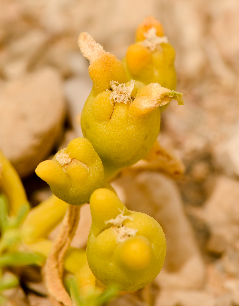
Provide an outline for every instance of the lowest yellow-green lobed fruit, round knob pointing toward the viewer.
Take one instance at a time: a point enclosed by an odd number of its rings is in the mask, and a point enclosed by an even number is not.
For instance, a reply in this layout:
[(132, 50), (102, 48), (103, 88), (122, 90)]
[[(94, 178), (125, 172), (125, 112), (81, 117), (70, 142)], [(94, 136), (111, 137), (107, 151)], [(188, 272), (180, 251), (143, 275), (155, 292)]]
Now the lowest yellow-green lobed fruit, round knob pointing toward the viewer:
[(92, 193), (90, 208), (87, 259), (95, 277), (120, 291), (137, 290), (150, 283), (166, 255), (159, 223), (146, 214), (129, 211), (106, 188)]

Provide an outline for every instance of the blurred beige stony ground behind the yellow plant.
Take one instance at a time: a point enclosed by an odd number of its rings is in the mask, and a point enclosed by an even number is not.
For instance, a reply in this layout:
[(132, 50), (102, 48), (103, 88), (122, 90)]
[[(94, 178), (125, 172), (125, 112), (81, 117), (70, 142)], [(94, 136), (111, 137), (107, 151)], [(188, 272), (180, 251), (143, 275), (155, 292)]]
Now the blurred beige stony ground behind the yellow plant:
[[(127, 207), (162, 225), (167, 258), (153, 284), (112, 306), (239, 305), (238, 14), (237, 0), (0, 0), (0, 148), (32, 206), (50, 195), (37, 164), (82, 136), (91, 80), (80, 32), (122, 59), (137, 25), (153, 15), (176, 50), (185, 105), (172, 102), (162, 114), (159, 141), (185, 175), (142, 171), (113, 183)], [(87, 206), (82, 214), (78, 247), (86, 245)], [(50, 305), (34, 290), (16, 290), (11, 306)]]

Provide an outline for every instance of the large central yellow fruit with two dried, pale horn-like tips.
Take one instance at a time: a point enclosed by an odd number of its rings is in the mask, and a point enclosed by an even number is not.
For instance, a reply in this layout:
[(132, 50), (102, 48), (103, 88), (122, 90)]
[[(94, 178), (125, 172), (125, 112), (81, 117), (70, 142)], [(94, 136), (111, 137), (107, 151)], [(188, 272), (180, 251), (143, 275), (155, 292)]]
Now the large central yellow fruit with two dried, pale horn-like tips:
[(101, 158), (108, 181), (118, 169), (144, 158), (159, 134), (159, 106), (181, 94), (156, 83), (145, 86), (125, 81), (122, 62), (106, 53), (88, 33), (80, 34), (79, 46), (90, 61), (93, 82), (81, 128)]

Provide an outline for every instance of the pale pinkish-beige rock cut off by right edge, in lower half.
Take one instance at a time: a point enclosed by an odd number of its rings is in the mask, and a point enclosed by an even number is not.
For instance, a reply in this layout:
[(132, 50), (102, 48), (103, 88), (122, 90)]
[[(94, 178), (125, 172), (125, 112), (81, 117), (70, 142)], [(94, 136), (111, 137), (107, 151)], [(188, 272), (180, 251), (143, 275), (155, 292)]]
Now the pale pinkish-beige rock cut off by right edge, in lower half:
[(218, 177), (215, 188), (204, 206), (211, 238), (208, 248), (225, 251), (229, 246), (238, 248), (239, 238), (239, 182), (225, 176)]

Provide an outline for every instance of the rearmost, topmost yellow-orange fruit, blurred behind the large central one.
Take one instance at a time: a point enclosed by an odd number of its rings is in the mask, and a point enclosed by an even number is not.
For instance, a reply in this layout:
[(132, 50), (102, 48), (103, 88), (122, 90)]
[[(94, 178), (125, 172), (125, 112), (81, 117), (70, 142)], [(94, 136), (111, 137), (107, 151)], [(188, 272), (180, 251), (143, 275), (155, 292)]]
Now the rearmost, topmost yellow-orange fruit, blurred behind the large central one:
[[(127, 77), (144, 84), (159, 83), (175, 90), (174, 48), (164, 36), (162, 24), (147, 17), (136, 30), (136, 43), (129, 46), (123, 59)], [(160, 110), (166, 106), (161, 106)]]

